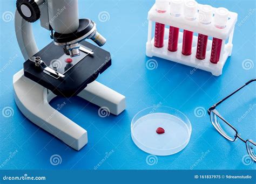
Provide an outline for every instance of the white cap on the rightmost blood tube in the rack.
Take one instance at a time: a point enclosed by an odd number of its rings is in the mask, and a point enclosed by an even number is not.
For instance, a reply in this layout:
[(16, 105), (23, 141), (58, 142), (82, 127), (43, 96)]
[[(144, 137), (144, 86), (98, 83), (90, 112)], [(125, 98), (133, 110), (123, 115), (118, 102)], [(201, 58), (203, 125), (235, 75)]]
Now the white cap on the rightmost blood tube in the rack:
[(217, 8), (214, 15), (214, 24), (218, 28), (226, 27), (229, 11), (226, 8)]

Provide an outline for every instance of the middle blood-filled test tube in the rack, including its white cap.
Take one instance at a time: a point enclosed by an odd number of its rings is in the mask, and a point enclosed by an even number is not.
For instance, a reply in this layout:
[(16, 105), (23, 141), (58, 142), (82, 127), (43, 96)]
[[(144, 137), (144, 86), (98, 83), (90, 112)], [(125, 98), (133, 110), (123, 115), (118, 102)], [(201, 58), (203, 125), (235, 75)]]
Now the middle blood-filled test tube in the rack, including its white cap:
[[(195, 20), (197, 15), (197, 2), (193, 0), (188, 0), (184, 4), (184, 15), (187, 20)], [(183, 44), (182, 44), (182, 54), (191, 55), (193, 44), (193, 32), (184, 30), (183, 31)]]

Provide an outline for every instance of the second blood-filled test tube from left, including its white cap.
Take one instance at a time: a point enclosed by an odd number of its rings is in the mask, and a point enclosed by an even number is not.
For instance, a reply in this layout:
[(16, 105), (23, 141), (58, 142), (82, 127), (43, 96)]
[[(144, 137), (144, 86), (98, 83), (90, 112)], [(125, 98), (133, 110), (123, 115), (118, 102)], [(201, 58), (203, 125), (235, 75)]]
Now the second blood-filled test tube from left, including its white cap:
[[(183, 1), (182, 0), (171, 0), (170, 2), (170, 15), (174, 17), (179, 17), (181, 15)], [(179, 28), (170, 26), (169, 28), (169, 41), (168, 50), (171, 52), (176, 52), (178, 49), (179, 40)]]

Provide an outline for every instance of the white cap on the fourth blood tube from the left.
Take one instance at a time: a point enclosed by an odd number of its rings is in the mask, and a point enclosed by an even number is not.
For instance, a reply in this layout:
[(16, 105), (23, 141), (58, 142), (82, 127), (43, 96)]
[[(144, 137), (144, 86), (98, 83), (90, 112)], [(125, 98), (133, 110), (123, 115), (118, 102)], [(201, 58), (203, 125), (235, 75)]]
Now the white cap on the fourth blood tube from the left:
[(203, 24), (210, 24), (212, 22), (213, 9), (210, 5), (202, 5), (199, 9), (198, 20)]

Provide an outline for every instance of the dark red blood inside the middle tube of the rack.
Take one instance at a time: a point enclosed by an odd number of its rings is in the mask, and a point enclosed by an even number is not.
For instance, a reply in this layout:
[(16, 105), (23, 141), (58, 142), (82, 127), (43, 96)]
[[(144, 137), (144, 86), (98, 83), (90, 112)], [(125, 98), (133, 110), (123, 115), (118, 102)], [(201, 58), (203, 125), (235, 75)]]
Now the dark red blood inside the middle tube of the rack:
[(192, 31), (183, 31), (183, 44), (182, 44), (182, 54), (191, 55), (193, 44), (193, 32)]

